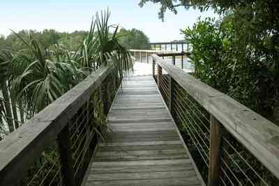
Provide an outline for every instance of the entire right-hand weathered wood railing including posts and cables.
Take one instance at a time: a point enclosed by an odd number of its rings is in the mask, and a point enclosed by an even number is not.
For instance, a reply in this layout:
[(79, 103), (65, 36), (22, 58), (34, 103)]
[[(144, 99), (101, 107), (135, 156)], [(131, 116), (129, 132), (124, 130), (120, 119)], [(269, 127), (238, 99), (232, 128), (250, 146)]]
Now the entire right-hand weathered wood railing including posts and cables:
[(278, 185), (279, 127), (158, 55), (153, 77), (207, 185)]

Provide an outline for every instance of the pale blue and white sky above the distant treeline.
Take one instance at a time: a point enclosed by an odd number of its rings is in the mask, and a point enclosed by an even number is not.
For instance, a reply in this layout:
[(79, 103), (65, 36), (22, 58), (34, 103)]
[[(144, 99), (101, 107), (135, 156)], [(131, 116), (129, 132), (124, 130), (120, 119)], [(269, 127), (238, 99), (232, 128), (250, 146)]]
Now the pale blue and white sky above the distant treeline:
[(183, 39), (180, 29), (192, 27), (199, 16), (217, 17), (213, 10), (185, 10), (167, 12), (165, 22), (158, 19), (159, 4), (146, 3), (140, 8), (140, 0), (1, 0), (0, 34), (7, 36), (10, 29), (56, 29), (72, 32), (88, 30), (96, 12), (111, 11), (110, 22), (126, 29), (140, 29), (151, 42), (167, 42)]

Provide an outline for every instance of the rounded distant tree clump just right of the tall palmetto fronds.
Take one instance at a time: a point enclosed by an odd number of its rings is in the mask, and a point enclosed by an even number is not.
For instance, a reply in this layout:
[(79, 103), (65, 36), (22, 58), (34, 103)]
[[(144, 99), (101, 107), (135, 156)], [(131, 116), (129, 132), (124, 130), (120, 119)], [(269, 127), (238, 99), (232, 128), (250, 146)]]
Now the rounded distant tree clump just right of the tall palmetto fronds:
[(118, 33), (120, 43), (128, 49), (150, 49), (149, 38), (138, 29), (121, 29)]

